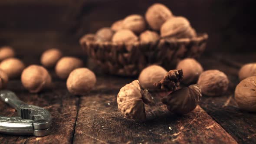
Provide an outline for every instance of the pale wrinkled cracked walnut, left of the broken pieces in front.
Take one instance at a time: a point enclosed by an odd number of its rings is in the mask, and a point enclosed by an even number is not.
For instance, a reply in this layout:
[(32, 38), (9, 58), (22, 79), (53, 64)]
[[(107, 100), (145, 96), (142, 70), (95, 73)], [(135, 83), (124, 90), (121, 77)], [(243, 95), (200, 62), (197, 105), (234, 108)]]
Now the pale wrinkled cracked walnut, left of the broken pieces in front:
[(118, 109), (125, 118), (144, 121), (146, 119), (145, 104), (153, 103), (147, 90), (142, 90), (138, 80), (122, 87), (117, 95)]

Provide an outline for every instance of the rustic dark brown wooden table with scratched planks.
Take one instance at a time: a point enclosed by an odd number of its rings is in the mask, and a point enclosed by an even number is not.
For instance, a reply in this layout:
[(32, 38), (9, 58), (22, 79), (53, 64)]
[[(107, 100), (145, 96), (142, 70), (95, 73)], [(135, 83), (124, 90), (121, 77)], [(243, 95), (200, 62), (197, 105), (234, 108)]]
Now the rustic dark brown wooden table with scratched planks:
[[(33, 45), (20, 47), (22, 49), (16, 49), (17, 57), (27, 65), (39, 64), (43, 48), (36, 50)], [(83, 57), (79, 46), (74, 46), (73, 49), (77, 51), (69, 51), (68, 48), (63, 48), (63, 51), (66, 55)], [(66, 81), (58, 79), (53, 70), (50, 70), (50, 73), (54, 87), (38, 94), (27, 92), (20, 79), (10, 80), (7, 89), (15, 92), (28, 104), (38, 105), (51, 112), (52, 130), (45, 137), (0, 134), (0, 144), (256, 144), (256, 114), (241, 111), (234, 100), (240, 66), (246, 62), (255, 62), (256, 54), (204, 53), (199, 61), (205, 70), (220, 69), (228, 75), (229, 92), (216, 98), (203, 96), (200, 105), (183, 116), (167, 111), (165, 106), (158, 102), (153, 107), (146, 107), (146, 122), (125, 119), (117, 108), (116, 96), (119, 89), (137, 78), (97, 75), (95, 88), (81, 97), (69, 94)], [(0, 115), (14, 116), (16, 112), (0, 101)]]

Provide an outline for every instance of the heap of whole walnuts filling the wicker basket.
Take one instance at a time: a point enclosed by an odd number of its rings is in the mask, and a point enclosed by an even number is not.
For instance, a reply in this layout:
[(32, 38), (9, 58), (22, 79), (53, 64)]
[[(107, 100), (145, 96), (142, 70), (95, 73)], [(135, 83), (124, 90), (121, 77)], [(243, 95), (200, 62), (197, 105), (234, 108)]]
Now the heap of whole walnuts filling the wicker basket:
[(123, 20), (116, 21), (111, 27), (103, 27), (95, 34), (85, 35), (84, 38), (98, 42), (154, 43), (160, 37), (181, 39), (196, 36), (196, 31), (185, 17), (174, 16), (166, 6), (155, 3), (148, 8), (145, 16), (129, 15)]

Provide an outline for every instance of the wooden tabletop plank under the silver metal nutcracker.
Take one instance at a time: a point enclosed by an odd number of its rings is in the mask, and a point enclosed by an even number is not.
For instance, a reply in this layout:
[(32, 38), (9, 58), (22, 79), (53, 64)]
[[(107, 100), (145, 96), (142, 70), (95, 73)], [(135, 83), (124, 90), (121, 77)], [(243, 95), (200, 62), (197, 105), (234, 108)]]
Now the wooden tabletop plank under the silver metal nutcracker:
[[(0, 134), (0, 144), (69, 144), (72, 142), (75, 120), (77, 115), (78, 98), (70, 95), (66, 90), (65, 82), (54, 82), (53, 90), (31, 94), (21, 85), (20, 80), (9, 82), (7, 89), (15, 92), (17, 96), (31, 105), (46, 108), (53, 116), (51, 132), (45, 137), (16, 136)], [(15, 110), (0, 101), (0, 115), (14, 116)]]

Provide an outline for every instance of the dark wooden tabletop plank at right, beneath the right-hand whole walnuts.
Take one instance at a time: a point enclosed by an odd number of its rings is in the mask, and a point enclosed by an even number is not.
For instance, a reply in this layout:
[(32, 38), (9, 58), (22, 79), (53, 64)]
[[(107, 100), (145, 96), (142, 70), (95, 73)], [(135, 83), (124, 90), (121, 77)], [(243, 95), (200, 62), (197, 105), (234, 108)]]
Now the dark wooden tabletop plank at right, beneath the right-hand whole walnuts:
[(202, 97), (200, 106), (241, 144), (256, 143), (256, 115), (241, 111), (234, 99), (234, 90), (239, 83), (237, 75), (239, 65), (251, 62), (252, 59), (248, 59), (248, 57), (253, 58), (253, 56), (240, 55), (237, 57), (240, 59), (239, 61), (236, 61), (234, 56), (229, 56), (229, 59), (215, 56), (201, 60), (203, 68), (220, 69), (225, 72), (230, 79), (230, 85), (226, 95), (216, 98)]

